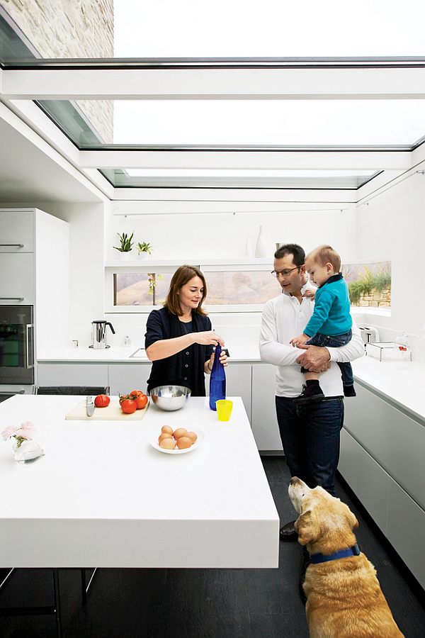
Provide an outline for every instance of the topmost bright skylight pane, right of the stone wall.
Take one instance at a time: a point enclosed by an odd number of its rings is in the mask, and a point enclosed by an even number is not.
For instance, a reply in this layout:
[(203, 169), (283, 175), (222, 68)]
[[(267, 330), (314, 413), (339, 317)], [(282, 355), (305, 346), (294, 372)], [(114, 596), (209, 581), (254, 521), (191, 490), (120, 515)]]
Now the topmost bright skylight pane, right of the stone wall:
[(411, 0), (114, 0), (115, 57), (424, 55)]

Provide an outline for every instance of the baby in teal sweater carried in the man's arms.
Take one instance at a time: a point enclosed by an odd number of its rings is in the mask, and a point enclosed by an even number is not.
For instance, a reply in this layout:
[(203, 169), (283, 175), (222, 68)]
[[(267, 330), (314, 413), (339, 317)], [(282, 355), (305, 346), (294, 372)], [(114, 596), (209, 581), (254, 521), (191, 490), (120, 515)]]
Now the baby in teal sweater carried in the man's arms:
[[(341, 257), (330, 246), (319, 246), (305, 258), (305, 269), (310, 275), (310, 281), (318, 286), (314, 312), (307, 323), (304, 332), (291, 340), (293, 346), (305, 343), (339, 347), (351, 340), (351, 326), (353, 320), (350, 315), (350, 299), (348, 286), (343, 279)], [(341, 368), (342, 382), (345, 396), (356, 396), (354, 390), (353, 371), (350, 363), (338, 362)], [(322, 401), (324, 393), (319, 384), (318, 374), (301, 368), (305, 375), (305, 385), (302, 393), (294, 399), (294, 403), (317, 403)]]

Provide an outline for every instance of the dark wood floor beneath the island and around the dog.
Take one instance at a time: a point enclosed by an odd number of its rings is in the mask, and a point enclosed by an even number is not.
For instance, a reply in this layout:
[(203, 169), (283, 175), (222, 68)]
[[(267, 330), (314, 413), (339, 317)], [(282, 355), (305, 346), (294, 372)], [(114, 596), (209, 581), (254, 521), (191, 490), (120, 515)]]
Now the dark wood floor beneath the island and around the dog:
[[(263, 457), (263, 465), (281, 522), (295, 518), (284, 459)], [(378, 571), (399, 628), (406, 638), (424, 638), (424, 591), (344, 481), (336, 489), (358, 517), (358, 544)], [(280, 543), (278, 569), (99, 569), (84, 607), (79, 570), (62, 569), (64, 638), (308, 638), (297, 588), (301, 563), (300, 546), (290, 542)], [(52, 597), (51, 570), (19, 569), (1, 590), (0, 607), (52, 605)], [(0, 623), (1, 638), (56, 635), (53, 616)]]

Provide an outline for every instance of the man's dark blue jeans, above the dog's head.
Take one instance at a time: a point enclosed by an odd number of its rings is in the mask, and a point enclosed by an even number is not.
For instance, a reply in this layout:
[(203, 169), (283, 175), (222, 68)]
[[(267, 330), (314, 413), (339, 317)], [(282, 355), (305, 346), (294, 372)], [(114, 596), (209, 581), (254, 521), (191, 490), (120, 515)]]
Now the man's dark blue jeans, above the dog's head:
[(335, 496), (344, 398), (325, 397), (320, 403), (300, 405), (292, 398), (276, 396), (276, 413), (291, 476), (310, 488), (320, 485)]

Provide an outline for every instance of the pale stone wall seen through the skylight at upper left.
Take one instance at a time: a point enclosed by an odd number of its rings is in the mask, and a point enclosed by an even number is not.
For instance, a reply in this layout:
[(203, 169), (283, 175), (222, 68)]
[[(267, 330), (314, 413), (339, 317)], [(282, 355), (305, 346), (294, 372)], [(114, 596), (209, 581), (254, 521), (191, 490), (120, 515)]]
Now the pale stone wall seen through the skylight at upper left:
[[(41, 57), (113, 57), (113, 0), (0, 0)], [(113, 102), (79, 101), (105, 142), (113, 142)]]

